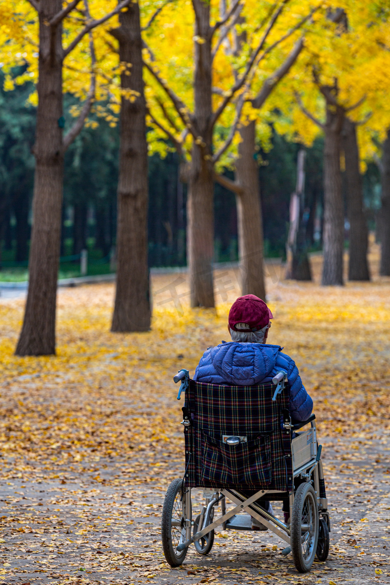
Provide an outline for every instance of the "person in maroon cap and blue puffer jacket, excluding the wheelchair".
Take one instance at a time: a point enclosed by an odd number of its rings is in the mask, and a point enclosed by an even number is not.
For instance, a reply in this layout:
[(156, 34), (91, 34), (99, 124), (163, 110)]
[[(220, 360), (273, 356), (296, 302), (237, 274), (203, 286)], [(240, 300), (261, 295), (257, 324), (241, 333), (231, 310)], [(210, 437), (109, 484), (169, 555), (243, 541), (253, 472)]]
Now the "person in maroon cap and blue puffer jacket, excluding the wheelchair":
[[(279, 372), (287, 374), (289, 382), (289, 407), (292, 422), (307, 421), (312, 414), (313, 401), (299, 377), (294, 360), (279, 345), (265, 345), (273, 319), (264, 301), (254, 294), (239, 297), (229, 312), (227, 331), (231, 342), (223, 341), (209, 347), (196, 367), (194, 380), (210, 384), (254, 386), (265, 384)], [(265, 506), (272, 513), (271, 504)], [(284, 501), (285, 522), (289, 522), (288, 500)], [(267, 530), (252, 517), (253, 530)]]

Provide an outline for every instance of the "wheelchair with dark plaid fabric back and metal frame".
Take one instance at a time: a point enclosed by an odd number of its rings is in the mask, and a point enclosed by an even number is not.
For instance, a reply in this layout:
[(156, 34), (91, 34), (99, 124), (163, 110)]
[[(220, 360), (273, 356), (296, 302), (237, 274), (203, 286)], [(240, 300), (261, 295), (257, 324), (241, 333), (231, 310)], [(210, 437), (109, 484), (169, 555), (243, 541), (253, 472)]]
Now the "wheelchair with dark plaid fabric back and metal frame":
[[(287, 543), (282, 554), (292, 553), (298, 572), (308, 572), (316, 555), (325, 561), (330, 519), (322, 446), (314, 414), (291, 422), (287, 373), (260, 386), (220, 386), (195, 382), (183, 369), (174, 381), (181, 382), (178, 400), (185, 393), (185, 472), (172, 481), (163, 505), (161, 540), (169, 565), (182, 565), (192, 543), (199, 555), (208, 554), (216, 526), (251, 530), (251, 517)], [(205, 498), (194, 519), (192, 488), (203, 488)], [(229, 511), (226, 498), (233, 503)], [(288, 502), (289, 524), (265, 510), (266, 500)]]

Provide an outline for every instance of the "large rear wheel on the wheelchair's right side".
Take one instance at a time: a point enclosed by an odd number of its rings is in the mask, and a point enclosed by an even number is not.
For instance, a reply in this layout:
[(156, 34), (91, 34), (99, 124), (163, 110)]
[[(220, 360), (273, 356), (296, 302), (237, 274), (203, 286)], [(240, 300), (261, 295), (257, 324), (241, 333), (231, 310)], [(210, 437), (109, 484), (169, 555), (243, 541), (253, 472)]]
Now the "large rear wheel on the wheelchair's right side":
[(307, 573), (316, 556), (319, 515), (316, 493), (309, 483), (298, 486), (291, 518), (291, 551), (299, 573)]

